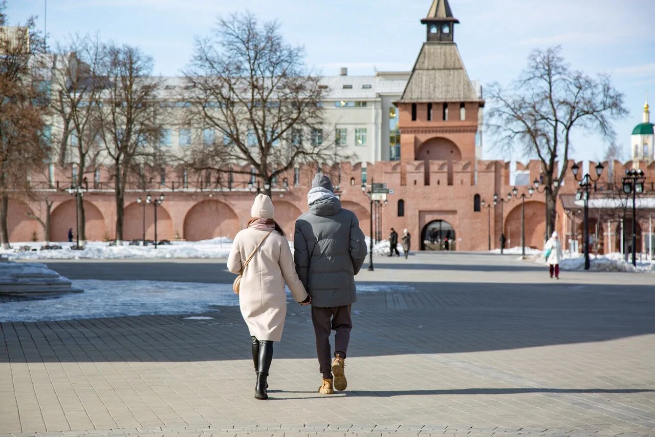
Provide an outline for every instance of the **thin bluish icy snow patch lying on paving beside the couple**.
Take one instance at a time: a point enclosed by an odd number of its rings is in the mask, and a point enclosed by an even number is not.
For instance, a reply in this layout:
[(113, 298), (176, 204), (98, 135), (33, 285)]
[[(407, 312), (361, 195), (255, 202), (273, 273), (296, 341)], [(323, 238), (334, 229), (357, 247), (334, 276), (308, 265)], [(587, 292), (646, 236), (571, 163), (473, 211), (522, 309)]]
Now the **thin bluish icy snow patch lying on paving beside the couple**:
[[(41, 322), (161, 314), (219, 313), (215, 306), (237, 306), (231, 283), (171, 281), (73, 281), (84, 293), (56, 299), (0, 303), (0, 322)], [(407, 285), (357, 284), (359, 293), (413, 291)], [(286, 291), (289, 305), (293, 302)], [(295, 308), (290, 306), (290, 308)], [(200, 318), (204, 317), (204, 318)], [(191, 320), (208, 320), (195, 316)], [(214, 318), (218, 318), (218, 314)]]

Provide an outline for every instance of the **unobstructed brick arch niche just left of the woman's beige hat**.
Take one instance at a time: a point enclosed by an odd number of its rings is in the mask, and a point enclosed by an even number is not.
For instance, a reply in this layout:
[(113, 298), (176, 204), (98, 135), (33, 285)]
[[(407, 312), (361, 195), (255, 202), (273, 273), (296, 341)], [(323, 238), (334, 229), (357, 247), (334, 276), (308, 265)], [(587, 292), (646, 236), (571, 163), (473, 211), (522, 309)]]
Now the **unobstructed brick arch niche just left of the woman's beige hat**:
[(216, 237), (234, 238), (239, 230), (239, 219), (234, 209), (219, 200), (196, 203), (184, 218), (184, 238), (187, 241)]

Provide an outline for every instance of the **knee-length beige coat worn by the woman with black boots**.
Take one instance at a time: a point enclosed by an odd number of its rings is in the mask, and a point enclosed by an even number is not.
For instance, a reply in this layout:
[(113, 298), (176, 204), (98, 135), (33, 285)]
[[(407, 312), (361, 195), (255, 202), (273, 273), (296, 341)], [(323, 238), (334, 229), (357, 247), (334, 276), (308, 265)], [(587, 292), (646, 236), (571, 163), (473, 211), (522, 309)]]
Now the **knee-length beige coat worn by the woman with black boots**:
[[(234, 237), (227, 268), (238, 274), (267, 230), (247, 228)], [(250, 260), (241, 278), (239, 307), (250, 335), (258, 340), (280, 341), (286, 316), (287, 283), (296, 302), (307, 299), (307, 291), (295, 272), (286, 237), (273, 231)]]

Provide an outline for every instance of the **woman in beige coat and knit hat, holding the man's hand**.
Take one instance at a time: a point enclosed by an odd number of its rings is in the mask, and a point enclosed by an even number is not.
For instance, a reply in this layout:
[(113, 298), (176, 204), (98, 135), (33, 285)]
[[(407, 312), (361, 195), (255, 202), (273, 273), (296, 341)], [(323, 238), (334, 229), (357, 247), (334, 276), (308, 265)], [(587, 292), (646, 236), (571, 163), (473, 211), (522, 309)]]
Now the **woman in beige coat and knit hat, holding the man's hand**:
[[(310, 297), (298, 279), (289, 243), (273, 220), (269, 196), (258, 194), (248, 227), (234, 237), (227, 268), (239, 274), (251, 253), (239, 287), (239, 307), (252, 339), (252, 359), (257, 372), (255, 398), (267, 399), (267, 378), (273, 358), (273, 342), (282, 339), (286, 316), (286, 282), (293, 299), (307, 305)], [(263, 241), (263, 242), (262, 242)]]

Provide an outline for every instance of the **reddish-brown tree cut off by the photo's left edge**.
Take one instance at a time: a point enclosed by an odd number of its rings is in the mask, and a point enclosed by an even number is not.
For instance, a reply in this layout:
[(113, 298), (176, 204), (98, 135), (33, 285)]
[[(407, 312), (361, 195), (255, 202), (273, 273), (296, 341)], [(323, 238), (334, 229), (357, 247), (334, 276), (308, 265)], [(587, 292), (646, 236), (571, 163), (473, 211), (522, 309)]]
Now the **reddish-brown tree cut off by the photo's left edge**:
[(28, 174), (48, 156), (44, 141), (48, 82), (43, 39), (34, 18), (8, 26), (0, 2), (0, 242), (9, 248), (7, 213), (10, 197), (29, 196)]

